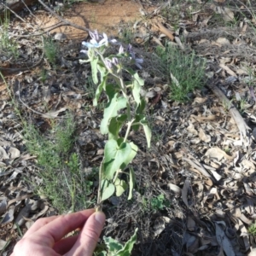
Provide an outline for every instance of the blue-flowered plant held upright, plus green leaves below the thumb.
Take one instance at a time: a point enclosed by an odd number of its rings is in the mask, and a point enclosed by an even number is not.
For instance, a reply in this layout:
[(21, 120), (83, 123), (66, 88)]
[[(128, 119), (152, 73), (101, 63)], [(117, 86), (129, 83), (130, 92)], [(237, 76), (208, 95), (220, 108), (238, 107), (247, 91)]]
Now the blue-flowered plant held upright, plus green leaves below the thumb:
[[(101, 210), (103, 201), (114, 194), (122, 195), (128, 187), (128, 200), (131, 199), (135, 176), (131, 166), (129, 172), (126, 168), (136, 156), (138, 148), (128, 137), (131, 130), (138, 131), (142, 125), (149, 148), (151, 131), (144, 115), (146, 102), (140, 94), (144, 81), (137, 71), (131, 68), (135, 66), (142, 68), (143, 59), (136, 58), (131, 44), (125, 50), (117, 40), (108, 39), (105, 33), (100, 35), (96, 31), (90, 32), (90, 38), (90, 42), (82, 43), (87, 48), (82, 49), (82, 52), (88, 55), (88, 60), (80, 60), (80, 63), (90, 62), (93, 82), (98, 84), (93, 101), (94, 106), (97, 105), (102, 91), (105, 91), (108, 96), (100, 128), (102, 134), (108, 134), (108, 142), (104, 148), (104, 158), (99, 171), (97, 210)], [(117, 47), (119, 50), (116, 54), (106, 54)], [(108, 48), (111, 49), (107, 50)], [(128, 81), (127, 78), (129, 78)], [(121, 137), (120, 133), (123, 130), (125, 130), (125, 136)], [(122, 178), (125, 176), (127, 178)], [(131, 248), (136, 241), (136, 233), (137, 230), (125, 246), (121, 246), (116, 241), (118, 250), (114, 251), (114, 255), (131, 253)], [(106, 241), (108, 240), (107, 238)], [(113, 241), (107, 243), (113, 244)], [(111, 248), (108, 248), (108, 251), (111, 252)]]

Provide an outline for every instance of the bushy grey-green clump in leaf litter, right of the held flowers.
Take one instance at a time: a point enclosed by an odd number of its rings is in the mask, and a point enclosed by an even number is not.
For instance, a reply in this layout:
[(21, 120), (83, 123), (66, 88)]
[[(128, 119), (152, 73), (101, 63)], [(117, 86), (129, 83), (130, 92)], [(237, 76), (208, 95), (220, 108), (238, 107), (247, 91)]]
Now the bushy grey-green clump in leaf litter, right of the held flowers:
[(185, 53), (167, 45), (166, 49), (158, 47), (156, 54), (160, 58), (160, 69), (170, 81), (173, 101), (187, 102), (190, 93), (203, 87), (206, 61), (196, 57), (195, 52)]

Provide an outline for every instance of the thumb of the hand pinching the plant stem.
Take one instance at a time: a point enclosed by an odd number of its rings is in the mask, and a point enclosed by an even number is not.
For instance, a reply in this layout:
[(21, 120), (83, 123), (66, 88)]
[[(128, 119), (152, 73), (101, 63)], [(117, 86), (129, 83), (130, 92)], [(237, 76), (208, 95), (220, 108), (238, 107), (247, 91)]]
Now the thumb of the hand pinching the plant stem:
[(102, 233), (105, 218), (103, 212), (95, 212), (90, 215), (80, 231), (78, 240), (67, 255), (91, 256)]

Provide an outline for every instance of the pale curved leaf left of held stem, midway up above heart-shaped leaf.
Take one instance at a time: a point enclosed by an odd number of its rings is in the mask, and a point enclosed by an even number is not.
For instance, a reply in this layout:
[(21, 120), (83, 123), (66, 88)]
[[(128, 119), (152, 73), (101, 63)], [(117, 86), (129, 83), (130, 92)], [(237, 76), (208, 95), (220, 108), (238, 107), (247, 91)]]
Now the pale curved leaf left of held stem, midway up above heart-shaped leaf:
[(118, 93), (115, 93), (113, 98), (110, 98), (107, 104), (107, 107), (104, 109), (104, 115), (101, 123), (101, 132), (102, 134), (108, 133), (108, 121), (112, 117), (116, 117), (118, 111), (126, 107), (127, 100), (123, 96), (119, 96)]

